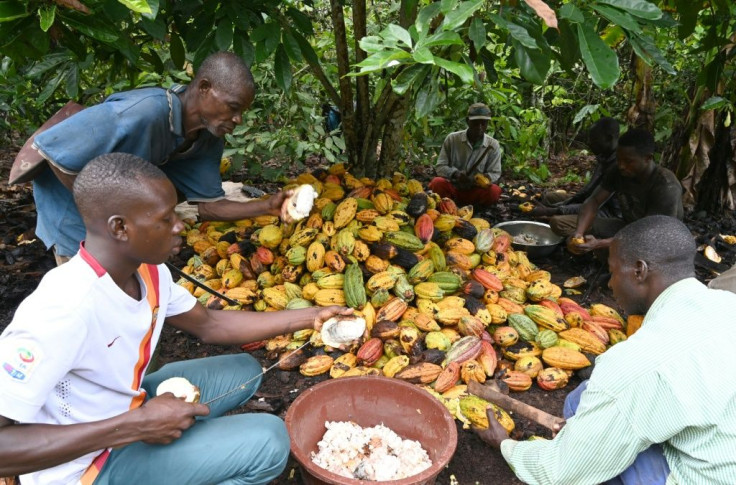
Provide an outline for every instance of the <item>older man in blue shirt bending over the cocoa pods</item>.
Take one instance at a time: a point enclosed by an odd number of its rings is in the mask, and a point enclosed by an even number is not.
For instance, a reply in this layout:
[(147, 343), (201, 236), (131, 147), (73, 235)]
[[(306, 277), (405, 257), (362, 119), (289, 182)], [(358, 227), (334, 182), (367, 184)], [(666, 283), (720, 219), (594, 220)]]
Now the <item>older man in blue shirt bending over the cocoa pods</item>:
[(218, 52), (205, 59), (189, 86), (116, 93), (38, 133), (33, 147), (48, 166), (33, 180), (36, 234), (54, 248), (58, 263), (76, 254), (85, 228), (72, 183), (87, 162), (112, 152), (157, 165), (180, 201), (197, 204), (204, 220), (281, 215), (283, 192), (243, 203), (225, 199), (222, 189), (222, 137), (242, 123), (254, 96), (248, 66), (235, 54)]

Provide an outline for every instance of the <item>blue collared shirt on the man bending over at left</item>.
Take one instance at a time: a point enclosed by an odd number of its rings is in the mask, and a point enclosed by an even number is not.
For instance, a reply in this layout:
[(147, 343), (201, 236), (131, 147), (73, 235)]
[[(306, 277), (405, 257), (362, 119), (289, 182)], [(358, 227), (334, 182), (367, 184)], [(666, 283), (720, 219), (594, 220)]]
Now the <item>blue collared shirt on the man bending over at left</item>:
[[(104, 153), (137, 155), (158, 165), (189, 202), (225, 196), (220, 179), (222, 139), (201, 130), (185, 152), (174, 154), (184, 139), (178, 94), (185, 86), (144, 88), (116, 93), (36, 136), (34, 147), (56, 167), (77, 174)], [(72, 256), (85, 229), (71, 192), (46, 168), (33, 181), (38, 221), (36, 234), (47, 247)]]

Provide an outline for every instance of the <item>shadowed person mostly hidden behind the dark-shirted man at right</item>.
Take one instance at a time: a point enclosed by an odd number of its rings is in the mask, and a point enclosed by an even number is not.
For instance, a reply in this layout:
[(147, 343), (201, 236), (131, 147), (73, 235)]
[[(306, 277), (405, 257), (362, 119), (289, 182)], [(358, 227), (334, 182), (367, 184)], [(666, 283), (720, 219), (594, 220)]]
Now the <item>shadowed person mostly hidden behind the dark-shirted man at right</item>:
[[(541, 199), (541, 205), (532, 210), (530, 215), (536, 218), (548, 218), (552, 230), (560, 236), (570, 236), (575, 230), (575, 224), (565, 218), (575, 215), (585, 199), (590, 197), (600, 185), (603, 174), (609, 167), (616, 165), (616, 149), (618, 148), (619, 124), (613, 118), (601, 118), (591, 126), (588, 132), (588, 147), (596, 157), (596, 166), (588, 183), (572, 197), (567, 192), (548, 191)], [(616, 195), (613, 194), (598, 210), (601, 217), (621, 217), (621, 210)], [(562, 216), (562, 217), (561, 217)]]

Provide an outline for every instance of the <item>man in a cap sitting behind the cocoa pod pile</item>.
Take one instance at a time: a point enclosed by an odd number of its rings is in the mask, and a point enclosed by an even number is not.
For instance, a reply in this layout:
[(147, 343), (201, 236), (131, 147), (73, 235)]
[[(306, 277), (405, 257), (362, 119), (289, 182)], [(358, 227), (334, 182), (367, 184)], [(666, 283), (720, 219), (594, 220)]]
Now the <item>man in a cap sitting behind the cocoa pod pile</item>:
[(483, 103), (468, 108), (466, 130), (450, 133), (437, 158), (437, 177), (429, 188), (459, 205), (491, 205), (498, 201), (501, 188), (503, 149), (486, 134), (491, 110)]

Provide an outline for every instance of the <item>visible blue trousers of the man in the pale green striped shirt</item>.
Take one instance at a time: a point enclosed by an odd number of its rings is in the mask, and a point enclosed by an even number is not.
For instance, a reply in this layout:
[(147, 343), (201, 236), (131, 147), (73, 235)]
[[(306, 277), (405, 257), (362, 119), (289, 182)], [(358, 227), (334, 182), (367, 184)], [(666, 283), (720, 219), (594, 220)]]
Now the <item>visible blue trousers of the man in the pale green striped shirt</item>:
[[(575, 414), (580, 404), (580, 395), (587, 387), (588, 381), (585, 380), (567, 395), (562, 410), (565, 419)], [(607, 481), (606, 485), (664, 485), (669, 474), (670, 467), (662, 453), (662, 447), (654, 444), (639, 453), (629, 468)]]

